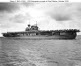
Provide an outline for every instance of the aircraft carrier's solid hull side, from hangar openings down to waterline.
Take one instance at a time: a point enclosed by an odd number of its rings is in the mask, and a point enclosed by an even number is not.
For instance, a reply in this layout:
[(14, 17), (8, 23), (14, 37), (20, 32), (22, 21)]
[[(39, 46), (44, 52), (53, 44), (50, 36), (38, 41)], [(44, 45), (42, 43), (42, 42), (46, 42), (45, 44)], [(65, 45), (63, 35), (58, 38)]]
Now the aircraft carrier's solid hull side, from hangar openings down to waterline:
[(75, 39), (76, 34), (74, 35), (35, 35), (35, 36), (28, 36), (28, 35), (18, 35), (18, 36), (7, 36), (4, 37), (14, 37), (14, 38), (26, 38), (26, 39)]

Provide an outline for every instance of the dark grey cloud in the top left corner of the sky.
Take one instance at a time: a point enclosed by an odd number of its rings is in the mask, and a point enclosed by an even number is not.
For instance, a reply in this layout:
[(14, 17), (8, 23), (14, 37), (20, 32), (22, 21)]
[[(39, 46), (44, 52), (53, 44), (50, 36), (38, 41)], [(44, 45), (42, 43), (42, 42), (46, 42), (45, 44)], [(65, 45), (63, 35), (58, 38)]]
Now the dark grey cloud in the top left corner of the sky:
[(0, 12), (14, 12), (19, 9), (18, 3), (0, 3)]

